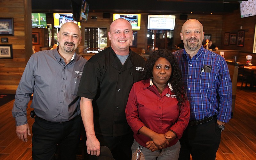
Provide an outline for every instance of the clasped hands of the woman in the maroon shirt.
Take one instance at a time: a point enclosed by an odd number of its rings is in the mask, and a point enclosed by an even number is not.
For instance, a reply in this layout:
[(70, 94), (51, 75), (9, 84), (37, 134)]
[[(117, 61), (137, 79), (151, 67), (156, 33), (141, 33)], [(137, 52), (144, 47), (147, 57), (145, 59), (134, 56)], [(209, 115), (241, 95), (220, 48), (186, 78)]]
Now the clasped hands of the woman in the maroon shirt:
[(171, 136), (165, 134), (156, 134), (152, 138), (152, 140), (146, 143), (146, 147), (150, 151), (154, 152), (155, 150), (165, 148), (169, 144), (169, 141), (171, 141), (171, 139)]

